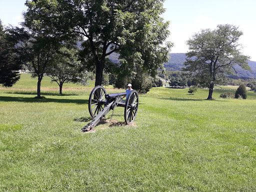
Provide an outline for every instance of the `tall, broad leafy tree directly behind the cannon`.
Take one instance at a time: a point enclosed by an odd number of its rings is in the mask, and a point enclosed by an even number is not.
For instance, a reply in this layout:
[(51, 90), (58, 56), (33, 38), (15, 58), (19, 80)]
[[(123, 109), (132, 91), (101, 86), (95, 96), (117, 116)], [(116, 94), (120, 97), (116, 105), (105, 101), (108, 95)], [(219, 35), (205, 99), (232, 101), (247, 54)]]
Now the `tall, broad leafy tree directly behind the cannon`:
[[(163, 22), (164, 0), (27, 0), (26, 18), (58, 31), (80, 35), (86, 67), (96, 73), (95, 85), (102, 83), (106, 58), (118, 53), (127, 75), (141, 68), (151, 75), (167, 61), (171, 43), (161, 46), (169, 31)], [(57, 4), (52, 14), (40, 10)], [(139, 65), (140, 67), (137, 67)], [(111, 67), (108, 67), (111, 68)]]

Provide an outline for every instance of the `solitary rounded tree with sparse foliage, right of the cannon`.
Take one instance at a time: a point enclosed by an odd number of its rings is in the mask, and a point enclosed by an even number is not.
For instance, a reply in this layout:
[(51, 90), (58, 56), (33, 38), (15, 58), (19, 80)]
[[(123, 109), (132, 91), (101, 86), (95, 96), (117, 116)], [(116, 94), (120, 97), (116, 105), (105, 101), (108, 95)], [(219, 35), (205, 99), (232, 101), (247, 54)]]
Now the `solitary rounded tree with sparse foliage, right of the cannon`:
[(230, 24), (217, 25), (214, 30), (205, 29), (187, 40), (189, 51), (183, 70), (195, 72), (209, 88), (207, 99), (212, 99), (214, 83), (223, 74), (235, 72), (234, 65), (250, 69), (248, 56), (241, 53), (238, 43), (242, 32)]

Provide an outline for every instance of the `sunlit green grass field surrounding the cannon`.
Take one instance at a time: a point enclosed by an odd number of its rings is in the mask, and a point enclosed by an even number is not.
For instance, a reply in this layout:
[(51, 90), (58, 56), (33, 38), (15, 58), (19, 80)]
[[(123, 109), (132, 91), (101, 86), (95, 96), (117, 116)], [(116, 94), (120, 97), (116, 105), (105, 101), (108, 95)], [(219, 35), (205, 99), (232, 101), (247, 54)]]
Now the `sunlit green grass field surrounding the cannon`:
[(156, 87), (139, 95), (132, 125), (116, 107), (84, 133), (93, 84), (59, 96), (45, 77), (38, 99), (22, 74), (0, 88), (0, 191), (256, 191), (256, 93)]

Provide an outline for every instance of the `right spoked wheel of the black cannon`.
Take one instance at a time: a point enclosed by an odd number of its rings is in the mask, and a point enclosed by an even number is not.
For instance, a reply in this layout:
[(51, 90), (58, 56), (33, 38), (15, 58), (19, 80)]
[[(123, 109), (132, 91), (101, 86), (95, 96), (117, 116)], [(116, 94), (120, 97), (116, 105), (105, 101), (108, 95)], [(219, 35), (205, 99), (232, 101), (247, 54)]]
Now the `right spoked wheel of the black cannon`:
[(124, 120), (126, 124), (130, 124), (136, 117), (138, 110), (138, 93), (132, 90), (125, 101)]

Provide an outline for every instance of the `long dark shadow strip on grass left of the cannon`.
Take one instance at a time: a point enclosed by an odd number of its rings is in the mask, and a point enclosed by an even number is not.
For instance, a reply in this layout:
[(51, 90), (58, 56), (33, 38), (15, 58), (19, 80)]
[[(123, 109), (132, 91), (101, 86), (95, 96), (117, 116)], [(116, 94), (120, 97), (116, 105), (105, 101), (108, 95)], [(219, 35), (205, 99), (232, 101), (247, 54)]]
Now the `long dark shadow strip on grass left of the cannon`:
[(61, 103), (88, 104), (88, 99), (33, 98), (33, 97), (13, 97), (13, 96), (0, 96), (0, 101), (61, 102)]

